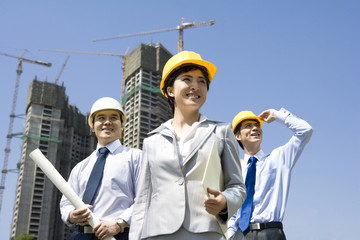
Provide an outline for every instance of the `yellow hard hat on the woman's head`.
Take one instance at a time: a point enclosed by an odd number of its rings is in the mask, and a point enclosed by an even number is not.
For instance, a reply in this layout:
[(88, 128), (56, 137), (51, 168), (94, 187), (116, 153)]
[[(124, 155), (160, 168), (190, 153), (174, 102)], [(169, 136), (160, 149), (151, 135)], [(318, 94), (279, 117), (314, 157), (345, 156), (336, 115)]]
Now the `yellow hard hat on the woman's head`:
[(184, 65), (184, 64), (189, 64), (189, 63), (194, 64), (194, 65), (199, 65), (199, 66), (206, 68), (206, 70), (209, 73), (209, 82), (211, 82), (211, 80), (215, 76), (215, 73), (217, 70), (216, 66), (210, 62), (202, 60), (200, 54), (197, 54), (197, 53), (191, 52), (191, 51), (179, 52), (178, 54), (172, 56), (166, 62), (164, 69), (163, 69), (162, 79), (161, 79), (161, 83), (160, 83), (160, 90), (165, 97), (167, 97), (167, 96), (163, 92), (163, 87), (164, 87), (165, 81), (169, 77), (170, 73), (172, 73), (175, 70), (175, 68), (177, 68), (181, 65)]

